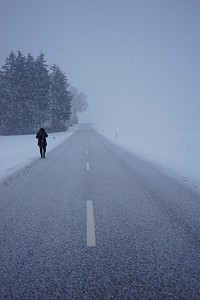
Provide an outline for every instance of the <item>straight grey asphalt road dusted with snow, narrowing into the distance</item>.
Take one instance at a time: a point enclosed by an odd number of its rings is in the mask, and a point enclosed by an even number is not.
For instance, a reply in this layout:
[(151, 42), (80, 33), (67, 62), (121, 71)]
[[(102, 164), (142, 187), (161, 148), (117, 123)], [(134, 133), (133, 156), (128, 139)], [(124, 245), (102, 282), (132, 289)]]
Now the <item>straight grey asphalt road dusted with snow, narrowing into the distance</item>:
[(200, 299), (200, 196), (88, 126), (0, 198), (0, 299)]

